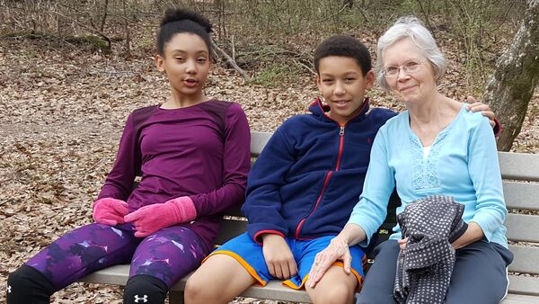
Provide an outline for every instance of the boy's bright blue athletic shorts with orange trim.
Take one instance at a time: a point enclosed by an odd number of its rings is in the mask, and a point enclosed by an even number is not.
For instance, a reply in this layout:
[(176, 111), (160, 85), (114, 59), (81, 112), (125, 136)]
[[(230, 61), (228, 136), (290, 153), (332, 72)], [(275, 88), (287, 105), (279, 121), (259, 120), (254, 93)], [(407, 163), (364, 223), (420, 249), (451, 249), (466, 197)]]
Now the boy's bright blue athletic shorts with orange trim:
[[(308, 240), (297, 240), (295, 238), (286, 237), (286, 241), (292, 255), (296, 259), (297, 274), (289, 280), (283, 282), (293, 289), (301, 289), (308, 279), (308, 274), (311, 271), (311, 266), (314, 264), (314, 257), (321, 252), (325, 247), (330, 245), (331, 238), (334, 236), (317, 237)], [(358, 289), (363, 282), (363, 263), (367, 260), (367, 257), (361, 247), (350, 247), (350, 254), (352, 255), (352, 273), (358, 279)], [(226, 242), (223, 246), (216, 248), (211, 255), (230, 255), (238, 263), (242, 264), (243, 268), (248, 273), (251, 273), (252, 277), (258, 282), (258, 284), (265, 286), (270, 280), (275, 280), (268, 270), (266, 260), (262, 253), (262, 246), (255, 243), (251, 237), (244, 233), (239, 237), (234, 237), (230, 241)], [(207, 257), (207, 259), (208, 259)], [(343, 266), (342, 262), (335, 262), (333, 265)]]

